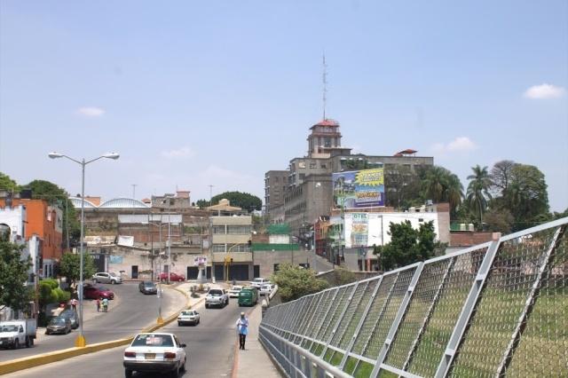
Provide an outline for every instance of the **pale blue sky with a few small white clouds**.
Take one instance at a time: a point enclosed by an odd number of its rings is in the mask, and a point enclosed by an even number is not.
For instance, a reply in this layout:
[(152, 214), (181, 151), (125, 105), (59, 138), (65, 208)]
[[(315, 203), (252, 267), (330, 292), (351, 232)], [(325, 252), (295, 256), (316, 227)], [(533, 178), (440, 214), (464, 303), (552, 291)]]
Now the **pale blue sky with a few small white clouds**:
[[(568, 2), (0, 0), (0, 171), (138, 199), (228, 190), (307, 153), (406, 148), (466, 177), (512, 160), (568, 208)], [(133, 186), (136, 185), (136, 186)], [(213, 185), (212, 188), (209, 185)]]

